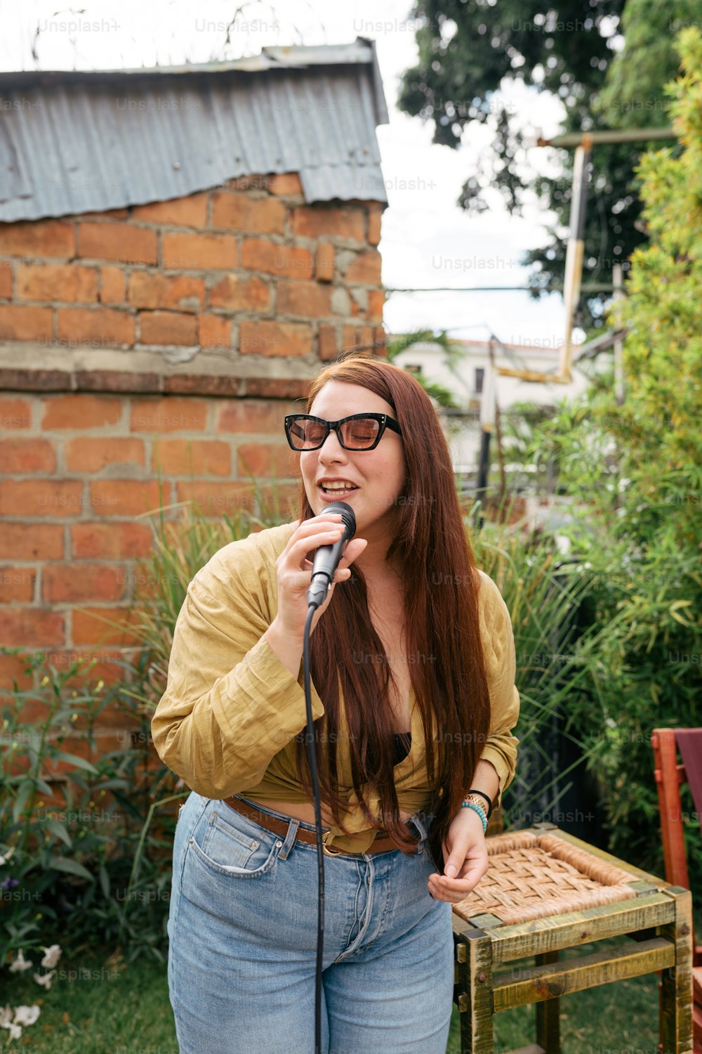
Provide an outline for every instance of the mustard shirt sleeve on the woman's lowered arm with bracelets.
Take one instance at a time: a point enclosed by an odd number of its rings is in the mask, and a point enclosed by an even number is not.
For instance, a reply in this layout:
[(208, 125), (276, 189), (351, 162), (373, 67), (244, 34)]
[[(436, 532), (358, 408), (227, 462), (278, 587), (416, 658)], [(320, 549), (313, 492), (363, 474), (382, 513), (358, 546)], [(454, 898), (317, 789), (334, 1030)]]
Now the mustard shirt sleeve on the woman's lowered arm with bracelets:
[(480, 571), (480, 628), (490, 698), (490, 727), (481, 760), (490, 761), (497, 769), (500, 786), (495, 806), (499, 807), (504, 790), (515, 778), (517, 765), (519, 740), (512, 735), (520, 705), (515, 684), (517, 656), (507, 605), (489, 575)]

